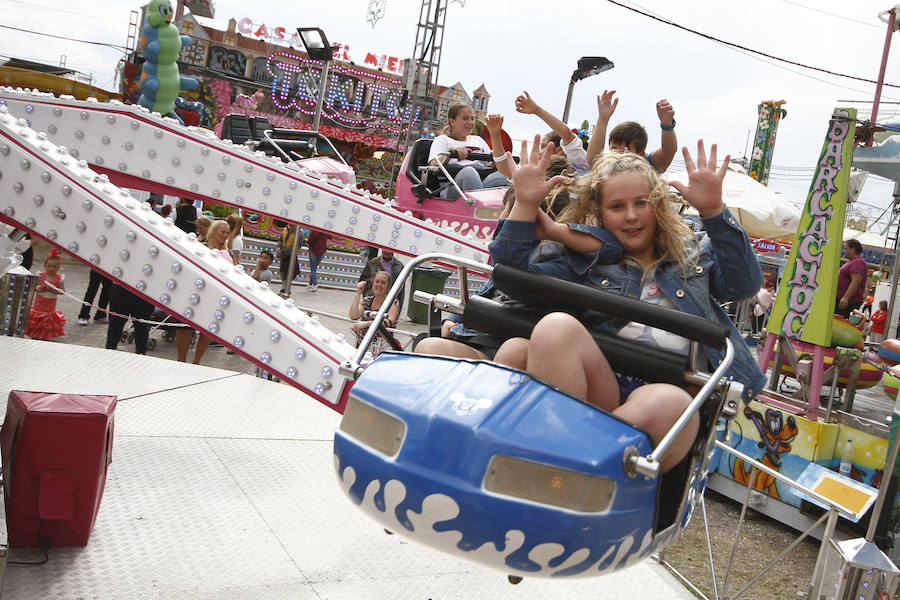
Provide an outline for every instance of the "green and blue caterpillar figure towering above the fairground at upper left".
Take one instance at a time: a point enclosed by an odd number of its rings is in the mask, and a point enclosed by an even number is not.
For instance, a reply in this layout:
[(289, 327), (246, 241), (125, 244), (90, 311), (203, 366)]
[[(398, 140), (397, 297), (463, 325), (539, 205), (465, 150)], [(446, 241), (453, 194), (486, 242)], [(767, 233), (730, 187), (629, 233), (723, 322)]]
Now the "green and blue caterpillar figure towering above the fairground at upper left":
[(138, 104), (163, 116), (181, 118), (175, 106), (184, 105), (178, 98), (181, 90), (195, 90), (200, 83), (193, 77), (182, 77), (178, 72), (178, 53), (181, 46), (190, 44), (191, 38), (179, 35), (172, 25), (172, 5), (169, 0), (150, 0), (144, 26), (141, 28), (141, 50), (146, 61), (141, 73), (141, 97)]

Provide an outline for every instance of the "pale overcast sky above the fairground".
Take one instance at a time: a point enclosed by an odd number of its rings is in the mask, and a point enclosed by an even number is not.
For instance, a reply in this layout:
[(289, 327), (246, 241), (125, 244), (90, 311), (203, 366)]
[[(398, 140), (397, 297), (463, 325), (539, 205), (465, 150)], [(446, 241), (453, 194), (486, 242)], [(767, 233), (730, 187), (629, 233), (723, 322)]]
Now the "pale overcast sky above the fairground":
[[(875, 80), (886, 25), (878, 13), (887, 1), (852, 0), (617, 0), (642, 12), (726, 42), (828, 71)], [(131, 11), (140, 2), (105, 0), (0, 0), (0, 55), (66, 65), (91, 73), (100, 87), (112, 88), (121, 51), (18, 32), (41, 33), (124, 46)], [(326, 2), (237, 2), (217, 0), (216, 18), (205, 24), (225, 28), (230, 17), (291, 30), (321, 27), (332, 43), (350, 46), (361, 62), (366, 52), (401, 58), (412, 54), (421, 4), (387, 0), (384, 17), (366, 22), (369, 0)], [(900, 85), (900, 47), (893, 44), (885, 81)], [(805, 200), (828, 117), (838, 105), (871, 113), (875, 85), (777, 62), (736, 50), (700, 35), (663, 24), (607, 0), (549, 2), (469, 0), (451, 2), (447, 12), (440, 82), (459, 81), (471, 92), (484, 83), (490, 109), (506, 117), (505, 129), (522, 138), (545, 127), (518, 115), (513, 100), (523, 89), (548, 110), (562, 115), (569, 76), (581, 56), (605, 56), (615, 68), (575, 85), (570, 123), (596, 119), (596, 97), (615, 89), (620, 98), (612, 124), (643, 123), (651, 146), (659, 143), (655, 104), (668, 98), (675, 107), (679, 143), (698, 138), (718, 142), (732, 157), (748, 148), (755, 133), (757, 105), (786, 100), (775, 146), (770, 187), (795, 203)], [(839, 102), (854, 100), (853, 104)], [(879, 121), (900, 114), (900, 87), (885, 87)], [(680, 169), (679, 160), (673, 165)], [(870, 177), (860, 197), (871, 217), (891, 202), (893, 183)], [(881, 233), (881, 227), (875, 228)]]

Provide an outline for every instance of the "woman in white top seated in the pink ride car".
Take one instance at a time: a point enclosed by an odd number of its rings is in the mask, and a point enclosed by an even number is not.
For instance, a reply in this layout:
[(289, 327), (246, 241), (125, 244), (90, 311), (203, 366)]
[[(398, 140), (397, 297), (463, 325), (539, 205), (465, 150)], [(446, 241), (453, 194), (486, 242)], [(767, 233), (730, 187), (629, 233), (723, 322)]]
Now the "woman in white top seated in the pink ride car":
[[(490, 154), (491, 149), (487, 142), (480, 136), (472, 135), (475, 129), (475, 112), (468, 104), (456, 103), (447, 111), (448, 123), (444, 127), (441, 135), (434, 138), (431, 143), (431, 151), (428, 153), (428, 164), (437, 165), (437, 161), (441, 160), (447, 165), (456, 165), (462, 167), (453, 179), (464, 192), (469, 190), (480, 190), (488, 187), (506, 187), (510, 185), (509, 179), (502, 173), (494, 171), (481, 179), (475, 167), (492, 167), (493, 163), (483, 160), (468, 160), (466, 157), (469, 152), (484, 152)], [(442, 152), (455, 150), (459, 158), (447, 159), (445, 156), (438, 156)], [(506, 154), (504, 153), (505, 157)], [(498, 157), (499, 159), (499, 157)], [(504, 159), (500, 159), (505, 160)], [(447, 200), (456, 200), (459, 198), (459, 192), (452, 185), (444, 188), (441, 197)]]

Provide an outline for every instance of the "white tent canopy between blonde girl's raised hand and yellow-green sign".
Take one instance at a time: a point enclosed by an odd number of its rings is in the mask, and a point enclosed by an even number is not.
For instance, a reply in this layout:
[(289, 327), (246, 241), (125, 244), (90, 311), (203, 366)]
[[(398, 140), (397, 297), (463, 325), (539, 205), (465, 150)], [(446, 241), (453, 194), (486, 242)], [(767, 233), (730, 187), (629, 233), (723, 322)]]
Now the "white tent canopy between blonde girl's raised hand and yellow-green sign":
[[(687, 183), (686, 172), (667, 174), (666, 178)], [(752, 237), (778, 238), (797, 232), (800, 209), (749, 175), (729, 169), (722, 183), (722, 197)]]

